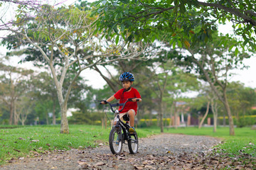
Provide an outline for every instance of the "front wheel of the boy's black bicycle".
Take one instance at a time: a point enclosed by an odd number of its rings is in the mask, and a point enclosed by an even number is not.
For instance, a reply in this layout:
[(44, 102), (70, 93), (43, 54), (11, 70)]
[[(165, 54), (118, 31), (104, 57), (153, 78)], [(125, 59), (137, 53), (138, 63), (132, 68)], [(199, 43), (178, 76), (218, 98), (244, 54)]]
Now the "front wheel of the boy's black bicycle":
[(122, 152), (122, 130), (121, 128), (112, 128), (110, 131), (110, 150), (112, 154), (121, 154)]

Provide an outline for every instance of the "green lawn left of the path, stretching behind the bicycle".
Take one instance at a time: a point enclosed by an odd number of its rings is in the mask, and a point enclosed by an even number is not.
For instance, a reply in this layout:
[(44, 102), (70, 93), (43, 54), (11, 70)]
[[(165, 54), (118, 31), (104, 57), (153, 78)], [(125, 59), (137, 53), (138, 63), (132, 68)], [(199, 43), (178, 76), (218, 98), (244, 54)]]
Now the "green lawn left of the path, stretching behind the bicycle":
[[(70, 134), (60, 134), (60, 126), (0, 126), (0, 164), (35, 152), (107, 145), (110, 128), (94, 125), (70, 125), (69, 128)], [(137, 133), (139, 137), (146, 137), (157, 132), (138, 129)]]

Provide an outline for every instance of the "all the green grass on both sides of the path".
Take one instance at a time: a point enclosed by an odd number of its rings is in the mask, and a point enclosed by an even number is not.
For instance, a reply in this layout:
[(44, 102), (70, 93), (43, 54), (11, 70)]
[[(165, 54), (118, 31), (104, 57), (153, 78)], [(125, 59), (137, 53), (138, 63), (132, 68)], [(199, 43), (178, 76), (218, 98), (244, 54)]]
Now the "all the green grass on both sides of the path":
[[(40, 154), (55, 149), (97, 147), (99, 143), (107, 145), (110, 127), (102, 129), (94, 125), (70, 125), (69, 128), (70, 134), (60, 134), (60, 126), (0, 126), (0, 164), (31, 156), (35, 152)], [(215, 133), (213, 128), (169, 128), (164, 132), (221, 137), (225, 142), (218, 147), (230, 153), (230, 157), (241, 150), (256, 157), (256, 130), (250, 128), (235, 128), (235, 136), (229, 135), (228, 128), (218, 128)], [(146, 137), (159, 134), (160, 129), (137, 128), (137, 133), (139, 137)]]

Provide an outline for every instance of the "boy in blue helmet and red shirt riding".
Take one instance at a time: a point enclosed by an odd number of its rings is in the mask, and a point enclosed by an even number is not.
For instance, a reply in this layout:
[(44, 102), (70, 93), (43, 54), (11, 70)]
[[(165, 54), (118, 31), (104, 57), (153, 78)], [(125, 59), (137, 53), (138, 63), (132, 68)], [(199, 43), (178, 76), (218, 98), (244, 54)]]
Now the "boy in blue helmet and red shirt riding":
[[(134, 82), (134, 75), (129, 72), (124, 72), (123, 74), (120, 75), (119, 81), (122, 81), (122, 86), (124, 89), (120, 89), (117, 91), (116, 94), (111, 96), (110, 98), (107, 99), (107, 102), (111, 102), (116, 98), (119, 100), (119, 103), (124, 103), (127, 101), (128, 98), (132, 98), (133, 102), (129, 102), (126, 104), (122, 112), (119, 114), (119, 118), (121, 120), (126, 120), (127, 117), (129, 117), (129, 123), (130, 123), (130, 128), (129, 132), (135, 132), (134, 129), (134, 117), (137, 115), (137, 101), (141, 102), (142, 97), (139, 94), (139, 91), (137, 89), (132, 88), (132, 84)], [(102, 101), (102, 104), (105, 104), (104, 101)], [(119, 106), (119, 109), (121, 109), (122, 106)], [(114, 125), (117, 123), (117, 117), (114, 118)]]

